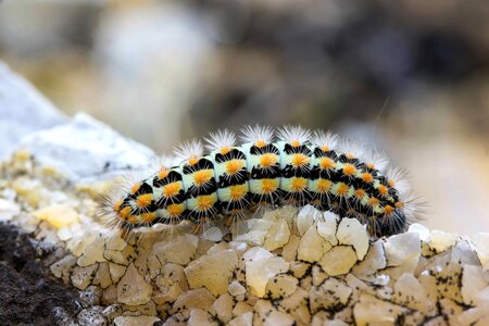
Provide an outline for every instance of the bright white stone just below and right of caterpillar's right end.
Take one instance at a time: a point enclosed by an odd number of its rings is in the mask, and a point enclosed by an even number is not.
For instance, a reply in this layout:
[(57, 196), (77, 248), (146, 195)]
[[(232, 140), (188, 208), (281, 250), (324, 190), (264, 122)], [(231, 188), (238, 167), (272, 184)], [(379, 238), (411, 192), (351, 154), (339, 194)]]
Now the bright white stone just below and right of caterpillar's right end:
[(406, 233), (389, 237), (384, 243), (387, 266), (399, 266), (421, 254), (419, 235)]

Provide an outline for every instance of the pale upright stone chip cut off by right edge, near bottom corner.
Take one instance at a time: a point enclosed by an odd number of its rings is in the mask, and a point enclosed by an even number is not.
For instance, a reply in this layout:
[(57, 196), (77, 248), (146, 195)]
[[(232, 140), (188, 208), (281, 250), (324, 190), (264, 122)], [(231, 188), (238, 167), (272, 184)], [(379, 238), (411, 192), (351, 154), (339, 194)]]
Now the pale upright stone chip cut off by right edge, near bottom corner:
[(475, 305), (480, 291), (489, 286), (489, 275), (479, 266), (465, 265), (462, 273), (462, 298), (466, 305)]

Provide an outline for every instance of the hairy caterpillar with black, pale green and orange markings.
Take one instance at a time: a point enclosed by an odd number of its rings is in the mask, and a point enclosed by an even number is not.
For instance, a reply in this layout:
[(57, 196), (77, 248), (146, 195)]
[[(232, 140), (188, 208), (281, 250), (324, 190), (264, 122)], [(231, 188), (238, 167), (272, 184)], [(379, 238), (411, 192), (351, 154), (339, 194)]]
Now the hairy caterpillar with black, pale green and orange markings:
[(134, 183), (111, 202), (121, 229), (189, 221), (199, 231), (211, 218), (233, 221), (256, 208), (312, 204), (355, 217), (373, 237), (404, 231), (414, 211), (404, 172), (376, 151), (336, 134), (299, 126), (247, 126), (184, 142), (176, 160)]

